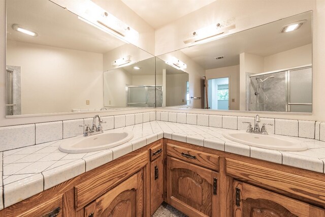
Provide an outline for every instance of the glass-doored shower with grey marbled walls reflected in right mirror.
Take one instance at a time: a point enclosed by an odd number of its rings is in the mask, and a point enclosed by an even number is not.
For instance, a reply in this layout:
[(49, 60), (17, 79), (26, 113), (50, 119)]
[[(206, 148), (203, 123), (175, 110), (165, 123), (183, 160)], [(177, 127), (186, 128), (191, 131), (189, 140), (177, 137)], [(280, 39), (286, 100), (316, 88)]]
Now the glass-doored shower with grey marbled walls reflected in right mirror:
[(249, 111), (312, 112), (312, 67), (300, 67), (248, 78)]

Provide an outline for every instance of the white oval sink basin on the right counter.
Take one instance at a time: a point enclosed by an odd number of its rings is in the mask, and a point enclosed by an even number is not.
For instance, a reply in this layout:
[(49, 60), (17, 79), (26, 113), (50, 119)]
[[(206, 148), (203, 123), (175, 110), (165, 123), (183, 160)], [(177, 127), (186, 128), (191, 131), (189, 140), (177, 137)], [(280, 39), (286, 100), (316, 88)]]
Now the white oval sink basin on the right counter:
[(277, 135), (259, 135), (245, 131), (225, 132), (225, 138), (250, 146), (283, 151), (303, 151), (307, 146), (296, 139)]

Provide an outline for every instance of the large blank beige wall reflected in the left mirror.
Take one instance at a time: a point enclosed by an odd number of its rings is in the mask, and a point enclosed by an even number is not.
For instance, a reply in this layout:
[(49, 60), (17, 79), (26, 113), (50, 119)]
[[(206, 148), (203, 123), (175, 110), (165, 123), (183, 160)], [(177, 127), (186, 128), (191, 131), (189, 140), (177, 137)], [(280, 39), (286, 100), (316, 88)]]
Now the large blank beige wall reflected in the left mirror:
[(7, 65), (21, 67), (22, 114), (103, 107), (101, 53), (8, 40)]

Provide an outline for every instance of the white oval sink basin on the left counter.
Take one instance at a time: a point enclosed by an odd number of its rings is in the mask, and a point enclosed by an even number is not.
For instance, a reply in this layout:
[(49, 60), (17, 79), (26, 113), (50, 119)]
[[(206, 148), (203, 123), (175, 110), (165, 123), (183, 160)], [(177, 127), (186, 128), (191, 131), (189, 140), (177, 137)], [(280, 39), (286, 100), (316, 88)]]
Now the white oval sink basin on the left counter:
[(133, 138), (129, 131), (112, 131), (92, 136), (77, 136), (62, 141), (59, 150), (66, 153), (84, 153), (112, 148)]

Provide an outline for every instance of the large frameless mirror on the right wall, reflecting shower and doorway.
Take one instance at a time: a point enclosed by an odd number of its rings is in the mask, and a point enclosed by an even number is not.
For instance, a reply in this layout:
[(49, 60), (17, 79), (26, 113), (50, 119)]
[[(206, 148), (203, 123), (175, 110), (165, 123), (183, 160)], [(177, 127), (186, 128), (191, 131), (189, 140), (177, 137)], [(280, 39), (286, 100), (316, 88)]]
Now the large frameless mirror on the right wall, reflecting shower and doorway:
[(311, 11), (163, 56), (187, 65), (192, 108), (312, 112)]

